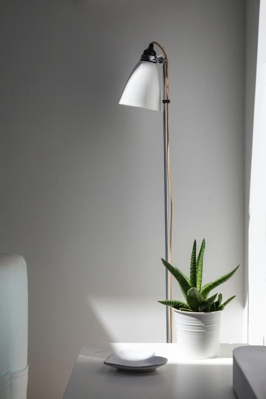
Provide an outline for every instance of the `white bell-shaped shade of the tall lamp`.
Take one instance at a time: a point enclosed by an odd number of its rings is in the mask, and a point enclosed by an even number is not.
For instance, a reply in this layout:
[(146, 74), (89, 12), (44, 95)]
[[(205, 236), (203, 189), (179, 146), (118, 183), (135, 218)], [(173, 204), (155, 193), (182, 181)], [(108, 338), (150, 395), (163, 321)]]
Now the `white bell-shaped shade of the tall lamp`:
[(119, 104), (163, 111), (161, 82), (155, 62), (138, 62), (126, 82)]

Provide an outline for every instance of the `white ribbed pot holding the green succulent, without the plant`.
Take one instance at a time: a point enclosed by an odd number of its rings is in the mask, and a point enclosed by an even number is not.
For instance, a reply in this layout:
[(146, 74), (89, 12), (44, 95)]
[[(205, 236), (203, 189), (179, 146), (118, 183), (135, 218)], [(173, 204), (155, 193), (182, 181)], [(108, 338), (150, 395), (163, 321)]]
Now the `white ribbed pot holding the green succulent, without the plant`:
[(178, 353), (193, 359), (219, 356), (223, 310), (209, 313), (173, 311)]

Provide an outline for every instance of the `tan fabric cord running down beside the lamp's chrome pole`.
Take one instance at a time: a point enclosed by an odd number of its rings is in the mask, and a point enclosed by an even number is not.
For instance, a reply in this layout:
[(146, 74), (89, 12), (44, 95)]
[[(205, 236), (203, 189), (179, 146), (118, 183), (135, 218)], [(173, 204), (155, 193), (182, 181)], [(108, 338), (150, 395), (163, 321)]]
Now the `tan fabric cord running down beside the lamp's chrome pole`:
[[(158, 42), (151, 42), (156, 44), (163, 51), (166, 58), (166, 94), (167, 100), (169, 97), (169, 60), (166, 51), (161, 44)], [(174, 210), (174, 200), (173, 200), (173, 183), (172, 183), (172, 173), (171, 173), (171, 162), (170, 162), (170, 140), (169, 140), (169, 102), (166, 103), (167, 112), (167, 165), (168, 165), (168, 179), (169, 179), (169, 189), (170, 189), (170, 202), (171, 202), (171, 216), (170, 216), (170, 246), (169, 246), (169, 263), (172, 263), (172, 237), (173, 237), (173, 210)], [(169, 273), (169, 297), (172, 299), (172, 275)], [(173, 309), (170, 308), (170, 329), (171, 329), (171, 342), (173, 342)]]

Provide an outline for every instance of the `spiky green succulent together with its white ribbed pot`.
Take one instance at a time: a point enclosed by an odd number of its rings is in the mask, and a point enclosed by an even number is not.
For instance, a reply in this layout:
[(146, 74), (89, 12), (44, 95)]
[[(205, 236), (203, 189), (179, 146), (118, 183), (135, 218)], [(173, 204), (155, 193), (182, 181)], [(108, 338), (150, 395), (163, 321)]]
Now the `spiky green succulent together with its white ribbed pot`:
[(173, 308), (179, 353), (194, 359), (207, 359), (219, 355), (223, 310), (235, 296), (224, 303), (222, 303), (222, 294), (219, 294), (218, 298), (218, 294), (208, 296), (212, 289), (229, 280), (240, 266), (218, 280), (202, 286), (204, 251), (203, 238), (198, 257), (196, 256), (195, 240), (191, 255), (190, 278), (162, 259), (165, 267), (178, 281), (185, 302), (158, 301)]

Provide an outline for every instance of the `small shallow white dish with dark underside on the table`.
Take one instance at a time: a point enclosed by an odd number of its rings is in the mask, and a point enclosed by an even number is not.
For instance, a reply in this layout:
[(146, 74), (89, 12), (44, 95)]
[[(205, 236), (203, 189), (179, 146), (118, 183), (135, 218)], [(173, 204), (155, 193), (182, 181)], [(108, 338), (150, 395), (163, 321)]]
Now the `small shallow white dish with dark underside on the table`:
[(154, 356), (154, 352), (143, 349), (118, 351), (104, 360), (104, 364), (107, 366), (135, 373), (155, 371), (166, 363), (167, 359), (165, 357)]

